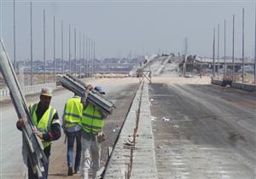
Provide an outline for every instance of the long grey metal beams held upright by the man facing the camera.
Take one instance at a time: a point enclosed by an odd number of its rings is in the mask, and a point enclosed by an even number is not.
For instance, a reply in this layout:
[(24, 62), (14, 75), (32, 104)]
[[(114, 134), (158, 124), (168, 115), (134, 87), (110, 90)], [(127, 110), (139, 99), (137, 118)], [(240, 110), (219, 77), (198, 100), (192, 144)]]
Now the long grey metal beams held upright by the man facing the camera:
[(28, 123), (22, 128), (22, 154), (24, 164), (27, 165), (27, 159), (29, 159), (34, 173), (38, 175), (38, 178), (42, 178), (44, 172), (43, 164), (47, 162), (47, 158), (44, 155), (43, 144), (41, 140), (32, 133), (32, 129), (35, 126), (32, 124), (32, 118), (26, 106), (26, 99), (20, 90), (18, 78), (16, 77), (14, 67), (12, 66), (2, 39), (1, 44), (3, 47), (3, 52), (0, 55), (0, 70), (6, 84), (9, 87), (10, 97), (14, 103), (18, 118), (26, 118), (28, 121)]

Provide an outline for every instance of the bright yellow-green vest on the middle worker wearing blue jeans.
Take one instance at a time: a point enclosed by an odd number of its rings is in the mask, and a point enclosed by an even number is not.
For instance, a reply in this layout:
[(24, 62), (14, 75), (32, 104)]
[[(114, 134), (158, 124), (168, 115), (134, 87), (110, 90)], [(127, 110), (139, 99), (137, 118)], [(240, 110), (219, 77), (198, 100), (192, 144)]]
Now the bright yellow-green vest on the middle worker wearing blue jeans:
[(81, 103), (81, 98), (75, 96), (69, 99), (65, 105), (63, 120), (64, 124), (67, 124), (67, 128), (71, 128), (75, 125), (81, 125), (83, 113), (83, 104)]

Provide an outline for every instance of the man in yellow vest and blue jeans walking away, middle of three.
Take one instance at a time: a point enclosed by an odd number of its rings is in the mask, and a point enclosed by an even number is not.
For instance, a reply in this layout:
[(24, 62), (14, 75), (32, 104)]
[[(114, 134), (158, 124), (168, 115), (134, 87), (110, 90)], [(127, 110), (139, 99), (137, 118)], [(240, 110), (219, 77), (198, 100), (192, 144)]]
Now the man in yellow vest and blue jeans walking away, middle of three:
[(81, 119), (83, 104), (78, 95), (74, 95), (66, 102), (62, 117), (62, 128), (67, 135), (67, 175), (73, 176), (73, 144), (76, 140), (76, 159), (74, 165), (74, 173), (79, 173), (81, 161)]

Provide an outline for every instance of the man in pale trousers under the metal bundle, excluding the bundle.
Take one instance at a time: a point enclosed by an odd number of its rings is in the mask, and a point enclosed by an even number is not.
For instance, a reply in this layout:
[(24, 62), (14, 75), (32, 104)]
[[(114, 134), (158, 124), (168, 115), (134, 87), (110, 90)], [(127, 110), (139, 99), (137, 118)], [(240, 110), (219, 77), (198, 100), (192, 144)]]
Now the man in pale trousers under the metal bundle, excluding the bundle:
[[(94, 88), (100, 94), (104, 95), (102, 88)], [(92, 90), (92, 86), (87, 85), (87, 90)], [(92, 178), (96, 178), (96, 172), (100, 168), (101, 148), (104, 134), (102, 127), (104, 125), (104, 115), (100, 109), (90, 102), (85, 102), (82, 116), (82, 174), (83, 179), (89, 178), (90, 162), (92, 162)], [(90, 156), (91, 153), (91, 156)], [(91, 159), (90, 159), (91, 158)]]

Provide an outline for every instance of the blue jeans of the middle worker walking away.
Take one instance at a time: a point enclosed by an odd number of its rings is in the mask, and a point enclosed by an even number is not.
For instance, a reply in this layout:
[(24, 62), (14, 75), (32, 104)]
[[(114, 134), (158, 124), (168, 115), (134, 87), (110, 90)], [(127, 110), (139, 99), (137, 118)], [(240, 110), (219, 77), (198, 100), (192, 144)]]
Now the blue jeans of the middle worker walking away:
[(74, 171), (79, 171), (81, 161), (81, 132), (67, 132), (67, 165), (73, 166), (73, 144), (77, 141), (76, 160), (74, 165)]

